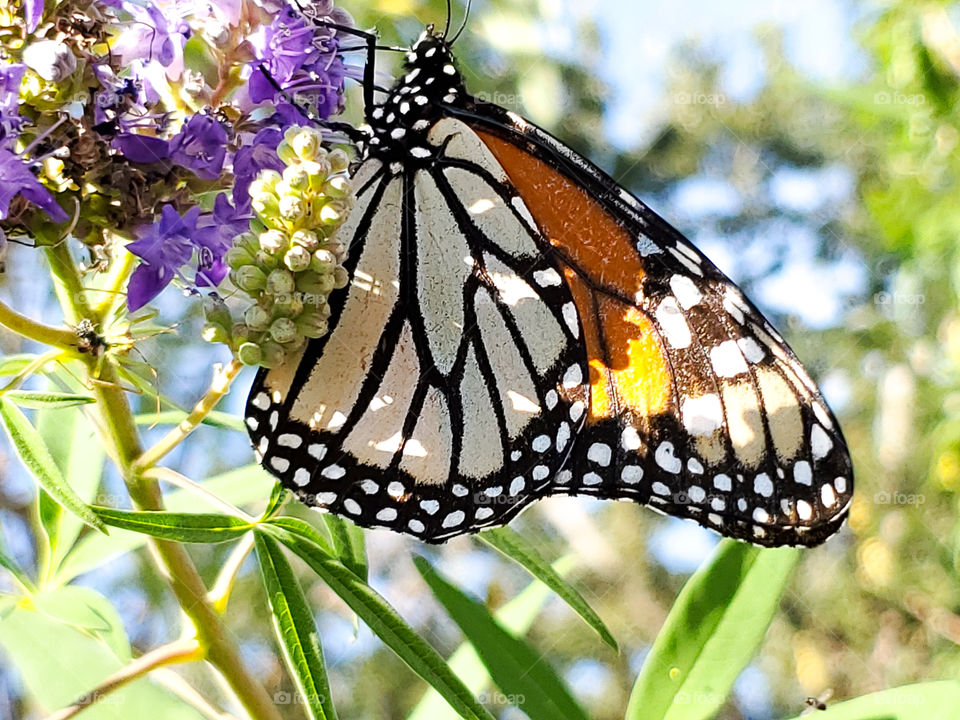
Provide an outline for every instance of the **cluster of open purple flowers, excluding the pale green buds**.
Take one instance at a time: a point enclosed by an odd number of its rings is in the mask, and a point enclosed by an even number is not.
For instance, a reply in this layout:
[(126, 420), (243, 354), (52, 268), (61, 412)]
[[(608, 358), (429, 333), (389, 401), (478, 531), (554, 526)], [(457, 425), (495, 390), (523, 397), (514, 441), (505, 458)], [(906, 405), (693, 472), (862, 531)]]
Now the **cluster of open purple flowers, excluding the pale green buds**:
[[(284, 168), (277, 157), (283, 132), (304, 122), (290, 100), (329, 118), (342, 110), (345, 78), (356, 75), (343, 62), (336, 32), (323, 25), (323, 19), (353, 24), (333, 0), (303, 0), (319, 24), (283, 0), (254, 0), (257, 7), (245, 9), (248, 1), (93, 0), (91, 17), (111, 35), (110, 53), (97, 56), (97, 45), (85, 45), (83, 35), (50, 34), (59, 6), (23, 0), (18, 22), (27, 42), (9, 62), (0, 61), (0, 220), (9, 218), (18, 195), (54, 222), (68, 219), (34, 172), (57, 151), (51, 140), (64, 133), (50, 129), (65, 115), (49, 105), (25, 112), (31, 99), (23, 95), (29, 85), (23, 79), (35, 73), (49, 86), (76, 88), (78, 69), (89, 68), (91, 100), (72, 101), (68, 122), (79, 132), (69, 141), (74, 147), (58, 154), (83, 180), (61, 187), (88, 185), (90, 167), (108, 169), (97, 191), (121, 209), (104, 227), (135, 237), (126, 247), (141, 260), (129, 308), (143, 307), (174, 278), (206, 287), (223, 281), (224, 255), (254, 217), (251, 183), (263, 170)], [(188, 42), (203, 49), (185, 52)], [(15, 152), (15, 143), (27, 150)], [(31, 156), (38, 147), (47, 155)], [(211, 193), (217, 193), (212, 209), (206, 203), (202, 209), (197, 198)], [(89, 226), (77, 199), (79, 222)], [(23, 207), (16, 206), (17, 220), (29, 227)]]

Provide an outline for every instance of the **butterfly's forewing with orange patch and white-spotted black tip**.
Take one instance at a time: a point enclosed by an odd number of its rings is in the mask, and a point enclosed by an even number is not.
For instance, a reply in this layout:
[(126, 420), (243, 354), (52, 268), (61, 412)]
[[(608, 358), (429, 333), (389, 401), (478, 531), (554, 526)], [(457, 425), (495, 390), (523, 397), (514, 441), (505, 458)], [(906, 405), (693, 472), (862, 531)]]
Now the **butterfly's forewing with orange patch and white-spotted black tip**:
[(551, 492), (631, 498), (762, 545), (814, 545), (853, 491), (839, 425), (783, 338), (677, 230), (512, 113), (462, 113), (574, 297), (590, 404)]

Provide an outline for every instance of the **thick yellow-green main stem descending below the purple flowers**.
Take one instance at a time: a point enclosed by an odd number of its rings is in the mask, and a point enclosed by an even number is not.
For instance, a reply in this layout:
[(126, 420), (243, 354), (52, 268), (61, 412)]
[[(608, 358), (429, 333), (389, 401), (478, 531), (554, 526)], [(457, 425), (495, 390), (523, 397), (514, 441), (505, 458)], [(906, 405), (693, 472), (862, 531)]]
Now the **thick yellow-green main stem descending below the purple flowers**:
[[(82, 318), (100, 320), (91, 316), (77, 267), (66, 244), (48, 248), (47, 253), (57, 295), (68, 319), (73, 322)], [(101, 360), (84, 356), (84, 360), (90, 379), (96, 379), (91, 385), (106, 450), (120, 470), (130, 499), (139, 510), (162, 510), (163, 495), (159, 484), (155, 479), (144, 477), (134, 467), (136, 459), (143, 454), (143, 447), (133, 412), (120, 385), (116, 361), (109, 356)], [(251, 717), (280, 720), (263, 685), (244, 665), (239, 647), (208, 599), (207, 588), (184, 546), (163, 540), (150, 540), (148, 546), (174, 597), (193, 624), (203, 657), (220, 671)]]

